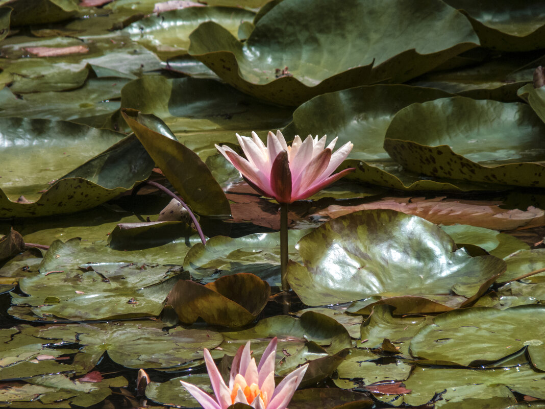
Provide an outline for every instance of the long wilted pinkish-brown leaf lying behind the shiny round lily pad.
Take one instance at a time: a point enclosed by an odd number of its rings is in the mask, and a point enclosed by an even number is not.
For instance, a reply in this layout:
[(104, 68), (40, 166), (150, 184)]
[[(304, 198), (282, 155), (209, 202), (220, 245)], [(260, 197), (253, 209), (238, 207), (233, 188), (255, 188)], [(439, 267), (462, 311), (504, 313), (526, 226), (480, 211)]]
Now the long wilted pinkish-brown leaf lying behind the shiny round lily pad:
[(501, 202), (470, 201), (435, 197), (385, 197), (371, 203), (356, 206), (333, 204), (313, 216), (335, 219), (339, 216), (368, 209), (392, 209), (397, 212), (414, 214), (436, 224), (469, 224), (493, 230), (515, 230), (545, 225), (545, 212), (533, 206), (527, 210), (501, 209)]

